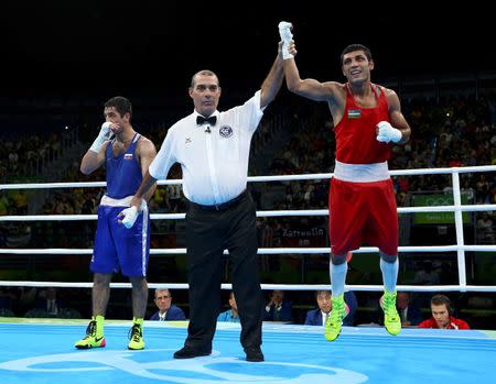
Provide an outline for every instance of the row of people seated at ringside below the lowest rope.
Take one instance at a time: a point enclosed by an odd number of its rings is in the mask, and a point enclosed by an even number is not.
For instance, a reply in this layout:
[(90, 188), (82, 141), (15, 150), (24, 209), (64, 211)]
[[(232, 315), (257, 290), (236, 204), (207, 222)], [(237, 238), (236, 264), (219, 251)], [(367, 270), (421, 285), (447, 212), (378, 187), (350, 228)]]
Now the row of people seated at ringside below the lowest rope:
[[(75, 308), (72, 290), (55, 287), (0, 287), (0, 317), (25, 318), (65, 318), (77, 319), (86, 312)], [(298, 323), (305, 326), (324, 326), (333, 306), (330, 290), (316, 290), (313, 300), (304, 307), (293, 305), (291, 296), (284, 290), (274, 289), (268, 293), (265, 307), (263, 321), (278, 323)], [(152, 321), (180, 321), (188, 319), (187, 306), (176, 304), (176, 295), (164, 285), (154, 289), (153, 299), (149, 303), (145, 319)], [(478, 298), (479, 306), (492, 306), (492, 298)], [(482, 303), (481, 300), (485, 300)], [(345, 293), (346, 317), (343, 325), (347, 327), (382, 327), (382, 315), (379, 303), (371, 307), (367, 318), (357, 314), (358, 301), (353, 290)], [(475, 328), (460, 318), (462, 311), (454, 308), (450, 298), (442, 294), (429, 295), (427, 308), (420, 307), (411, 300), (411, 294), (399, 292), (397, 309), (403, 328), (445, 328), (471, 329)], [(441, 307), (440, 307), (441, 305)], [(442, 305), (445, 305), (444, 307)], [(111, 312), (115, 308), (111, 309)], [(120, 316), (114, 312), (114, 316)], [(236, 297), (228, 292), (225, 305), (218, 308), (219, 322), (240, 322)]]

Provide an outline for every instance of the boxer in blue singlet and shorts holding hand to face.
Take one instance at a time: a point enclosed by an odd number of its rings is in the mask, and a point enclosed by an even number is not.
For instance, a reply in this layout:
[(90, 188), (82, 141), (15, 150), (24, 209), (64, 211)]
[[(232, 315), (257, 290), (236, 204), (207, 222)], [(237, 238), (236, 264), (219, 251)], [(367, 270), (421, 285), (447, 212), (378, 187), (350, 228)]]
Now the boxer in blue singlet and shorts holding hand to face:
[[(131, 125), (132, 107), (128, 99), (114, 97), (105, 103), (101, 130), (83, 157), (80, 171), (91, 174), (105, 164), (107, 191), (98, 207), (98, 223), (90, 262), (94, 273), (93, 316), (86, 336), (76, 341), (77, 349), (106, 345), (104, 319), (114, 273), (121, 272), (132, 285), (133, 325), (128, 348), (141, 350), (143, 318), (148, 301), (147, 267), (150, 252), (150, 216), (147, 207), (130, 229), (119, 220), (119, 213), (130, 206), (143, 175), (154, 158), (153, 143), (137, 133)], [(109, 136), (112, 139), (109, 140)], [(147, 196), (152, 196), (154, 188)], [(145, 204), (143, 204), (145, 206)]]

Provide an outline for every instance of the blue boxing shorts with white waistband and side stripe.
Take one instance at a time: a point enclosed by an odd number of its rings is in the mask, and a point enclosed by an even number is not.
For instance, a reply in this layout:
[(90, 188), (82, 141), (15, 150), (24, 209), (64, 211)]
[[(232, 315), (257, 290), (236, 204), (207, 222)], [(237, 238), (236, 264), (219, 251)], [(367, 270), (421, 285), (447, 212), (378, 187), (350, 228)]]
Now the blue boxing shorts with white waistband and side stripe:
[[(127, 199), (122, 199), (127, 200)], [(118, 222), (118, 215), (129, 204), (108, 206), (106, 202), (122, 201), (104, 196), (98, 207), (98, 223), (90, 263), (94, 273), (116, 273), (125, 276), (147, 276), (150, 255), (150, 215), (143, 209), (134, 226), (127, 229)]]

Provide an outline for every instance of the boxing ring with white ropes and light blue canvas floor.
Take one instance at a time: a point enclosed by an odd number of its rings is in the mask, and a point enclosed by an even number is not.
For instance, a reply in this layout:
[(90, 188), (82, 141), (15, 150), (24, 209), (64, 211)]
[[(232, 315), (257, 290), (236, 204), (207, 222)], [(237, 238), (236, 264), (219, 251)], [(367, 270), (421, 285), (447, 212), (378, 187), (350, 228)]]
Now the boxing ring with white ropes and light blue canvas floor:
[[(460, 174), (495, 172), (496, 166), (391, 171), (391, 176), (448, 174), (452, 177), (451, 206), (400, 207), (398, 213), (454, 212), (456, 243), (438, 246), (400, 246), (399, 253), (456, 253), (459, 284), (398, 285), (407, 292), (496, 292), (496, 286), (466, 283), (465, 252), (496, 252), (496, 245), (465, 244), (462, 212), (496, 210), (496, 205), (462, 205)], [(332, 174), (258, 176), (249, 182), (325, 179)], [(163, 180), (159, 185), (179, 184)], [(104, 187), (105, 183), (7, 184), (0, 189)], [(258, 211), (258, 217), (327, 216), (327, 209)], [(184, 213), (151, 215), (152, 220), (184, 219)], [(96, 215), (2, 216), (0, 221), (96, 220)], [(360, 248), (354, 253), (375, 253)], [(1, 254), (80, 254), (90, 249), (0, 249)], [(152, 249), (151, 254), (185, 254), (185, 249)], [(328, 248), (266, 248), (259, 254), (328, 254)], [(91, 287), (93, 283), (0, 281), (0, 286)], [(150, 288), (185, 289), (187, 284), (150, 282)], [(129, 283), (112, 283), (129, 288)], [(230, 289), (230, 284), (223, 284)], [(330, 289), (328, 284), (262, 284), (263, 289)], [(347, 289), (380, 292), (381, 285), (347, 285)], [(145, 321), (143, 351), (126, 349), (130, 321), (106, 320), (105, 349), (77, 351), (73, 344), (84, 333), (87, 319), (0, 318), (1, 383), (454, 383), (490, 382), (496, 372), (496, 331), (403, 329), (389, 336), (384, 328), (344, 327), (336, 341), (327, 342), (323, 327), (263, 323), (266, 361), (248, 363), (239, 344), (237, 323), (218, 323), (211, 356), (177, 361), (172, 353), (182, 347), (187, 321)]]

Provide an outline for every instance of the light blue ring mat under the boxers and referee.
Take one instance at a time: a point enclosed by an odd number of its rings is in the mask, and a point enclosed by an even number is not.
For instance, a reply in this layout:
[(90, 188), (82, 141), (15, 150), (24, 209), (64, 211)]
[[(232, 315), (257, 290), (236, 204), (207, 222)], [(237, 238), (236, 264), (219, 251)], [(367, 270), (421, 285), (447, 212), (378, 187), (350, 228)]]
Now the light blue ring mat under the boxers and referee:
[(238, 323), (217, 325), (211, 356), (174, 360), (187, 321), (145, 321), (142, 351), (127, 350), (130, 321), (106, 321), (107, 347), (83, 351), (87, 320), (1, 321), (1, 384), (496, 383), (495, 331), (344, 327), (328, 342), (323, 327), (265, 322), (266, 361), (249, 363)]

